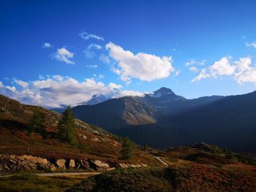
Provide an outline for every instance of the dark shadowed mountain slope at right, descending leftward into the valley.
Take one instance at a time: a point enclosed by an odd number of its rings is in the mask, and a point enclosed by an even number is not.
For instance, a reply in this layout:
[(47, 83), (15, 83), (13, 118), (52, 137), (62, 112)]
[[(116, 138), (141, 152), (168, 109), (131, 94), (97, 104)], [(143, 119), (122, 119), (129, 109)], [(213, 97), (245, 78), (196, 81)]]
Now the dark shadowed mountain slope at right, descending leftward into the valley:
[[(200, 100), (203, 101), (201, 98)], [(208, 101), (208, 98), (206, 99)], [(195, 102), (195, 101), (193, 101)], [(135, 142), (167, 148), (209, 142), (230, 150), (256, 153), (256, 91), (226, 96), (158, 117), (157, 124), (112, 130)]]

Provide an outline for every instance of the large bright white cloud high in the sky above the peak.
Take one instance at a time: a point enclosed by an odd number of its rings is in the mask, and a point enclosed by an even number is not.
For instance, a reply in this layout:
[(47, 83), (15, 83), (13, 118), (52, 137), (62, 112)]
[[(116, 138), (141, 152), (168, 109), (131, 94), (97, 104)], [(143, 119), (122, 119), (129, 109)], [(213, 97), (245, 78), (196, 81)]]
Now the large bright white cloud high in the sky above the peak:
[(109, 42), (106, 45), (110, 58), (113, 58), (118, 64), (112, 67), (112, 72), (120, 75), (121, 80), (130, 82), (131, 78), (137, 78), (143, 81), (152, 81), (166, 78), (175, 69), (172, 66), (171, 57), (147, 53), (138, 53), (134, 55), (129, 50)]

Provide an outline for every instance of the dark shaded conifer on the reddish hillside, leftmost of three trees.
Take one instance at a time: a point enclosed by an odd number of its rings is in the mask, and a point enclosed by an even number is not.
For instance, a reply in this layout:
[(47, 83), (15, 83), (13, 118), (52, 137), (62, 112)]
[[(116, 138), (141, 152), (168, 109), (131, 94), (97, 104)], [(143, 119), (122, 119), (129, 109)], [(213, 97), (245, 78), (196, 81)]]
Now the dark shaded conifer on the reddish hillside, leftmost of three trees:
[(42, 110), (39, 107), (34, 110), (34, 114), (31, 116), (29, 121), (29, 132), (37, 132), (42, 134), (45, 137), (45, 115), (43, 114)]

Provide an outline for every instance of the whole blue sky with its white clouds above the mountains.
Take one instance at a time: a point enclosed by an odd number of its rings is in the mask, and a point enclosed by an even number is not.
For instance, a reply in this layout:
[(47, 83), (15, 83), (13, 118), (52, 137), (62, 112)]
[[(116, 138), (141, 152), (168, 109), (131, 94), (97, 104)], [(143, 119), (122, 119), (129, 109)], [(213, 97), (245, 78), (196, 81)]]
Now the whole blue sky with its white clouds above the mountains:
[(189, 99), (249, 93), (255, 9), (256, 1), (1, 1), (0, 93), (55, 107), (163, 86)]

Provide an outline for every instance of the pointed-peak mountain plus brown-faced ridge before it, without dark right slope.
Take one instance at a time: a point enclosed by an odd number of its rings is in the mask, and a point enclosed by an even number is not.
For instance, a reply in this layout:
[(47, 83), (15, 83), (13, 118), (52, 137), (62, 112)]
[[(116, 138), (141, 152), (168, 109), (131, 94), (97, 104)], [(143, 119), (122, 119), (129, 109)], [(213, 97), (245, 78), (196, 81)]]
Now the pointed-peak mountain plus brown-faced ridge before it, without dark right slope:
[(165, 114), (179, 112), (222, 98), (222, 96), (185, 99), (169, 88), (160, 88), (143, 97), (126, 96), (95, 105), (80, 105), (72, 110), (76, 118), (107, 130), (157, 123)]

